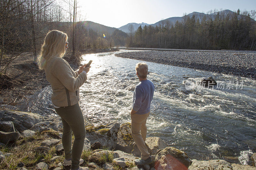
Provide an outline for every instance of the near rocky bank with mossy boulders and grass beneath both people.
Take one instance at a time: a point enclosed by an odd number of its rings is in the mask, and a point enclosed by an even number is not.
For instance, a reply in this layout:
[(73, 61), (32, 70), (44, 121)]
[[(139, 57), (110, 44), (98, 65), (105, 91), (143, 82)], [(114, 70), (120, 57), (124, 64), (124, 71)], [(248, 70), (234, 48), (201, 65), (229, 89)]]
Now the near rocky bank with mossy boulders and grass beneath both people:
[[(85, 119), (86, 120), (86, 119)], [(62, 165), (60, 117), (43, 117), (34, 113), (0, 111), (0, 169), (69, 169)], [(111, 122), (95, 127), (86, 123), (82, 159), (89, 169), (107, 170), (197, 170), (246, 169), (253, 166), (230, 164), (225, 160), (196, 160), (185, 152), (168, 146), (159, 137), (147, 137), (153, 162), (135, 166), (140, 151), (131, 137), (131, 124)], [(74, 142), (74, 137), (72, 138)], [(192, 159), (192, 160), (191, 160)]]

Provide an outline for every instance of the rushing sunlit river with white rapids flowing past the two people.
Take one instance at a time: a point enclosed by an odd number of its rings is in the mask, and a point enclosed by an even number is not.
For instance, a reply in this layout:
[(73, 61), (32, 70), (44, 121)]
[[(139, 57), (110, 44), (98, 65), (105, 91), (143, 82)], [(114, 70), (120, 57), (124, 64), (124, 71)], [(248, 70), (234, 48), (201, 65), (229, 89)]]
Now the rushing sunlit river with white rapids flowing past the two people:
[[(131, 121), (133, 90), (139, 83), (135, 65), (141, 61), (119, 58), (116, 53), (83, 56), (83, 63), (93, 62), (87, 81), (80, 87), (79, 104), (84, 116), (95, 125)], [(250, 162), (249, 156), (256, 151), (256, 80), (146, 63), (148, 79), (155, 85), (147, 137), (160, 137), (191, 159)], [(186, 90), (185, 80), (196, 82), (210, 76), (226, 87), (236, 82), (243, 85), (238, 89), (195, 85)], [(29, 111), (54, 116), (51, 93), (51, 86), (47, 86), (34, 95)]]

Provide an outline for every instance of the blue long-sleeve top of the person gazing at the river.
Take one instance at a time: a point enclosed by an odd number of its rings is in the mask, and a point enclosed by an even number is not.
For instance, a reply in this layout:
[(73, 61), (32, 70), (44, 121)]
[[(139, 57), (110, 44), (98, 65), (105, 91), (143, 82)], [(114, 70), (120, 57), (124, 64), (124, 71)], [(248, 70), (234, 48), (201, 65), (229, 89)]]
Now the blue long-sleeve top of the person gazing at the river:
[(150, 111), (155, 85), (150, 80), (142, 80), (133, 92), (132, 109), (136, 114), (143, 115)]

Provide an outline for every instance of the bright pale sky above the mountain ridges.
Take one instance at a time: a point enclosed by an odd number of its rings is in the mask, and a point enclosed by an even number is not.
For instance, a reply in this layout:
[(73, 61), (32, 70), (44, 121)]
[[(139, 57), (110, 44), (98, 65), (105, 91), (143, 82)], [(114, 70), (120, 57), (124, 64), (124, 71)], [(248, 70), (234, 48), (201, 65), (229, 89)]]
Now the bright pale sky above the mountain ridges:
[(131, 22), (154, 24), (183, 13), (210, 10), (256, 10), (256, 0), (77, 0), (86, 20), (105, 26), (121, 27)]

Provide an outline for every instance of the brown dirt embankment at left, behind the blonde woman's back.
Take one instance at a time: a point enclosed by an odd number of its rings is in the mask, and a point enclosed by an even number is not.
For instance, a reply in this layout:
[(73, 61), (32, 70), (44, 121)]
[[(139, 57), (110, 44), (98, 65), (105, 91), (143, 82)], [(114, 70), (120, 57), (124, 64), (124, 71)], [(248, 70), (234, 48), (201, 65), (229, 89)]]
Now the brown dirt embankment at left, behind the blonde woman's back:
[(15, 105), (21, 98), (38, 92), (50, 85), (44, 70), (34, 63), (32, 53), (17, 57), (9, 66), (6, 75), (0, 75), (0, 99), (4, 104)]

